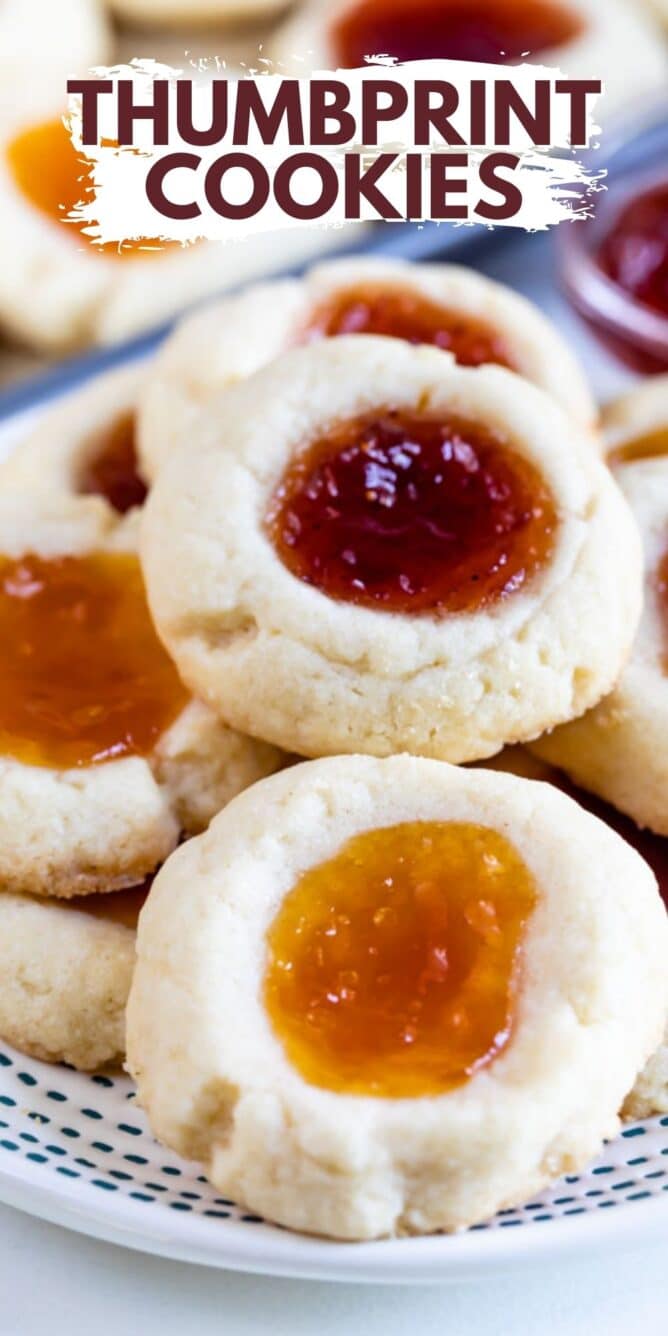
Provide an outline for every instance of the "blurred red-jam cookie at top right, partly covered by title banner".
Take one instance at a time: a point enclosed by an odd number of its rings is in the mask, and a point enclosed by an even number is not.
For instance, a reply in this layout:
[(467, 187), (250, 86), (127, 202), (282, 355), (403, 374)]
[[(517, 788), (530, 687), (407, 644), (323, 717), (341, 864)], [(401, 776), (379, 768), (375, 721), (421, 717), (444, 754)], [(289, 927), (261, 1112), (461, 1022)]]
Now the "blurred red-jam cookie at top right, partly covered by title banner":
[[(629, 59), (629, 51), (633, 59)], [(556, 65), (601, 79), (605, 114), (665, 87), (660, 33), (635, 0), (307, 0), (270, 45), (279, 69), (353, 69), (367, 56)]]

